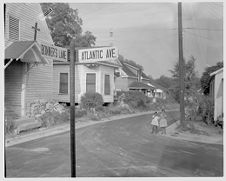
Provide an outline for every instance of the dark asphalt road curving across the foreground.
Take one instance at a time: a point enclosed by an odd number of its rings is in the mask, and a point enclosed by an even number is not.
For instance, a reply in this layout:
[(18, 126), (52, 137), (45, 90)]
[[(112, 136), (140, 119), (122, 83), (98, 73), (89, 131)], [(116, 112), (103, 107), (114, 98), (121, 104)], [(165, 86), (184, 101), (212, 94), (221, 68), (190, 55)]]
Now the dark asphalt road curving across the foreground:
[[(83, 177), (222, 176), (223, 146), (150, 134), (150, 115), (81, 128), (76, 172)], [(7, 177), (69, 177), (69, 133), (6, 149)]]

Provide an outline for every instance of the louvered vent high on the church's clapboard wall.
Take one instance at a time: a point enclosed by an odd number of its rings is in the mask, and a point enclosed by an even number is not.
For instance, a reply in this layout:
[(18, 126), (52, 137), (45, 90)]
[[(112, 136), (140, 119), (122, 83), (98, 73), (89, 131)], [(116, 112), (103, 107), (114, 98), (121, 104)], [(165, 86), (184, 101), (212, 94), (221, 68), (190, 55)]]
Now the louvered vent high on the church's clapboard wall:
[(9, 16), (9, 39), (19, 40), (19, 19)]

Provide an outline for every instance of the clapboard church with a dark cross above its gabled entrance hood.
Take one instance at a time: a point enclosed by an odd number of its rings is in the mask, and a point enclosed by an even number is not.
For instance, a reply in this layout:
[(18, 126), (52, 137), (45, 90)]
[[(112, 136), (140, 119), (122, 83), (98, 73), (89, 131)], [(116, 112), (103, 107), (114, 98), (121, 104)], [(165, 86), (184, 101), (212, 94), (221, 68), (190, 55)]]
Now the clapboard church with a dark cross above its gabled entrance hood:
[(26, 116), (32, 101), (52, 95), (53, 60), (42, 56), (40, 43), (53, 41), (42, 14), (38, 3), (5, 4), (5, 117)]

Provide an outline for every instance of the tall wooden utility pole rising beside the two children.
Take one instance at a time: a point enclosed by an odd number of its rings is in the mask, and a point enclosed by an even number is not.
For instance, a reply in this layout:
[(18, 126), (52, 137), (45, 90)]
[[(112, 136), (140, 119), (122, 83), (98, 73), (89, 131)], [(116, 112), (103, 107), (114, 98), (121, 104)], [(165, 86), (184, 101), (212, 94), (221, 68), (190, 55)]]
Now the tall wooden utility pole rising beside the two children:
[(184, 57), (183, 57), (183, 29), (182, 29), (182, 3), (178, 2), (178, 45), (179, 45), (179, 70), (180, 70), (180, 120), (184, 124)]

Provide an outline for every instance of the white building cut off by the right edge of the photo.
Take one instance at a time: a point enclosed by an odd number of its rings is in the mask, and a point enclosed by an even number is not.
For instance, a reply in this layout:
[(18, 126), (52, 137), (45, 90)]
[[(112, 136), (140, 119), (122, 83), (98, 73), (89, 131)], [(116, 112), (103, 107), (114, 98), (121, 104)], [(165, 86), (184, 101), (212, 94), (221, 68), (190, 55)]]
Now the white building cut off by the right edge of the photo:
[(211, 73), (212, 80), (210, 82), (210, 96), (214, 102), (214, 120), (223, 114), (223, 68)]

